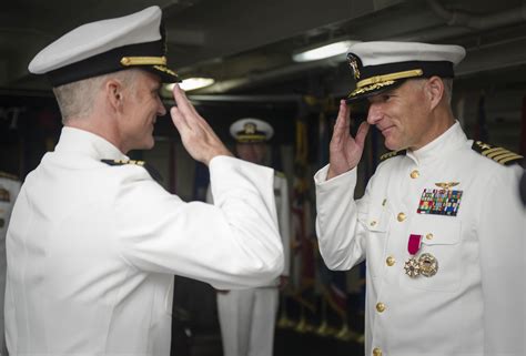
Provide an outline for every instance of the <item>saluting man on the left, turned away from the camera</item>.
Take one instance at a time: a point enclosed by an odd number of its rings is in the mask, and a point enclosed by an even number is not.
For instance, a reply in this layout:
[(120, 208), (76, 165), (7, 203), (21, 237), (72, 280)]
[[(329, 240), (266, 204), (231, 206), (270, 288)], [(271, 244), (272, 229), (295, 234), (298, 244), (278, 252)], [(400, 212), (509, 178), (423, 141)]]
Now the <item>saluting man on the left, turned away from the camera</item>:
[[(171, 116), (215, 206), (164, 191), (125, 153), (165, 109), (161, 10), (84, 24), (43, 49), (64, 128), (23, 184), (7, 237), (12, 355), (169, 355), (173, 274), (239, 288), (280, 275), (273, 170), (234, 159), (176, 87)], [(203, 222), (205, 222), (203, 224)]]

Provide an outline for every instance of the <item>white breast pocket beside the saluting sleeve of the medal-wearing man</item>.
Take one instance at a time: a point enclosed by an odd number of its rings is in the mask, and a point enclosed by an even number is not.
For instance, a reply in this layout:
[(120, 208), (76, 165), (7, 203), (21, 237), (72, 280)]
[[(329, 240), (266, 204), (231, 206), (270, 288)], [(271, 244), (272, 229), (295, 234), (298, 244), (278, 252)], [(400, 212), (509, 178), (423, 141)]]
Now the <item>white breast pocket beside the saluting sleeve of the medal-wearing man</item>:
[(361, 220), (367, 234), (365, 236), (367, 251), (365, 264), (370, 275), (376, 278), (382, 275), (385, 265), (383, 262), (385, 261), (392, 213), (387, 205), (378, 204), (378, 207), (371, 208), (368, 214)]

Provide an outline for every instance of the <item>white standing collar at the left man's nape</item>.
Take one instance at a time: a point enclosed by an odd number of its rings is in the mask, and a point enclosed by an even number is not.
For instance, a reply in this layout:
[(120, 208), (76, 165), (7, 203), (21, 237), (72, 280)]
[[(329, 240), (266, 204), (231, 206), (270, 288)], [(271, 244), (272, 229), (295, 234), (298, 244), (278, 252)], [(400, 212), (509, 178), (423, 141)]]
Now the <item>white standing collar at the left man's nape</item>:
[(94, 160), (129, 160), (124, 153), (105, 139), (70, 126), (62, 128), (55, 151), (85, 154)]

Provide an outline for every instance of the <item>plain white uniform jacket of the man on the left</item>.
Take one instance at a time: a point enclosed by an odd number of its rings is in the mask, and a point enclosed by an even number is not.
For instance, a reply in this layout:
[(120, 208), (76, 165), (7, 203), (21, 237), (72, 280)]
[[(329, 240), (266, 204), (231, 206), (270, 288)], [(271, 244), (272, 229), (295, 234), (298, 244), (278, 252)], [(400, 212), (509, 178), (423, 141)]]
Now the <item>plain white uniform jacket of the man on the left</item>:
[(11, 355), (169, 355), (173, 274), (235, 288), (283, 269), (271, 169), (214, 157), (213, 206), (101, 159), (128, 157), (64, 128), (22, 186), (7, 241)]

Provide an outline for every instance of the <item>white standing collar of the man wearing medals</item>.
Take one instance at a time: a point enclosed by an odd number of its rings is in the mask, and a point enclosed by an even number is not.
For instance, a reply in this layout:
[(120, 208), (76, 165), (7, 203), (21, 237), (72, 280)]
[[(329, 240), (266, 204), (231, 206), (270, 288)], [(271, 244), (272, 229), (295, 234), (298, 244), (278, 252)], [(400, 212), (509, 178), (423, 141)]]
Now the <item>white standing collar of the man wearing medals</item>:
[(457, 150), (467, 142), (466, 134), (456, 121), (446, 132), (416, 151), (407, 150), (407, 156), (416, 164), (425, 164), (427, 161), (444, 156)]

